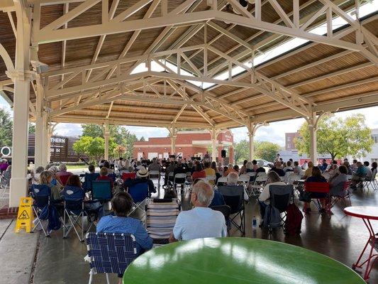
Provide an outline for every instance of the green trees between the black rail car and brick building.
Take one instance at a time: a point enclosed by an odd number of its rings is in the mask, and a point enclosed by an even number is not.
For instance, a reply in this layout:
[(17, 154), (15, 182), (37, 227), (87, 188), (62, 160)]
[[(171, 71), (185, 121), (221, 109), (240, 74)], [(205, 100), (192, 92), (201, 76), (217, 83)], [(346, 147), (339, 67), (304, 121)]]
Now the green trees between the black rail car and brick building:
[[(82, 124), (82, 131), (82, 136), (104, 138), (104, 131), (102, 127), (97, 124)], [(134, 142), (138, 141), (135, 134), (130, 133), (125, 127), (117, 125), (109, 125), (109, 132), (115, 143), (115, 145), (111, 147), (111, 142), (109, 141), (109, 155), (113, 155), (117, 158), (132, 157)], [(125, 148), (126, 151), (116, 151), (117, 146)]]

